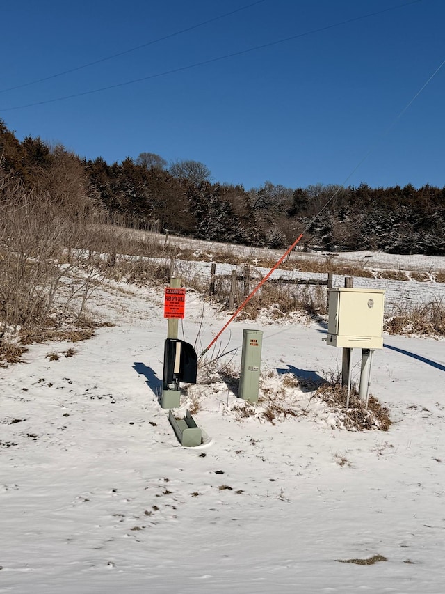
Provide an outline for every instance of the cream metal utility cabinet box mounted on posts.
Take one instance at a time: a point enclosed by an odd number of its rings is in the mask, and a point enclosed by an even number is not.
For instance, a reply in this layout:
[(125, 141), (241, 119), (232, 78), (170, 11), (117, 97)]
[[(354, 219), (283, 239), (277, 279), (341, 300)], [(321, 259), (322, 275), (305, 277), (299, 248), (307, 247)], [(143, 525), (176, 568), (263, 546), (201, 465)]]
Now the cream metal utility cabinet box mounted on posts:
[(383, 348), (384, 297), (382, 289), (329, 289), (327, 344), (343, 348)]

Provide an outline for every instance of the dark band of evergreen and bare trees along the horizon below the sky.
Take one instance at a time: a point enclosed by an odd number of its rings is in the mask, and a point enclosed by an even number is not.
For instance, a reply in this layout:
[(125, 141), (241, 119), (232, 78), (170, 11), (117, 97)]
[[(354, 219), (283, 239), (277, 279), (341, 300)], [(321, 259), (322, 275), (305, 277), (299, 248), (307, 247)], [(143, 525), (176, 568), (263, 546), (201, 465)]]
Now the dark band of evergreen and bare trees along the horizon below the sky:
[(245, 189), (213, 182), (207, 166), (193, 160), (168, 164), (147, 152), (108, 164), (39, 137), (19, 141), (2, 120), (0, 169), (66, 208), (101, 210), (148, 230), (276, 248), (304, 231), (307, 249), (445, 255), (445, 187), (289, 188), (266, 181)]

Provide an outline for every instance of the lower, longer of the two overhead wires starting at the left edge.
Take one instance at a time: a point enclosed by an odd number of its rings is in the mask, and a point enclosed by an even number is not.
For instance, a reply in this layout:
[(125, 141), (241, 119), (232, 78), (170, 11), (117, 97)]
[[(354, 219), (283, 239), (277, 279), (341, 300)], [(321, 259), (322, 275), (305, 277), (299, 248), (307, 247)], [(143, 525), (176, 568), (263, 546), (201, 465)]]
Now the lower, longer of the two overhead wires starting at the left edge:
[(271, 42), (264, 43), (261, 45), (256, 45), (255, 47), (250, 47), (248, 49), (241, 49), (239, 52), (233, 52), (232, 54), (225, 54), (225, 56), (218, 56), (218, 58), (210, 58), (209, 60), (195, 62), (194, 64), (189, 64), (187, 66), (179, 66), (179, 68), (173, 68), (172, 70), (165, 70), (164, 72), (159, 72), (156, 75), (148, 75), (146, 77), (140, 77), (138, 79), (133, 79), (133, 80), (127, 81), (127, 82), (121, 82), (121, 83), (112, 84), (109, 86), (103, 86), (101, 88), (95, 88), (95, 89), (92, 89), (92, 91), (83, 91), (82, 93), (73, 93), (72, 95), (65, 95), (63, 97), (56, 97), (54, 99), (47, 99), (44, 101), (36, 101), (33, 103), (27, 103), (24, 105), (17, 105), (15, 107), (3, 107), (3, 108), (0, 108), (0, 111), (13, 111), (15, 109), (24, 109), (26, 107), (34, 107), (36, 105), (45, 105), (48, 103), (54, 103), (54, 102), (58, 102), (58, 101), (64, 101), (67, 99), (73, 99), (74, 97), (83, 97), (84, 95), (92, 95), (93, 93), (99, 93), (101, 91), (109, 91), (112, 88), (119, 88), (121, 86), (127, 86), (129, 84), (135, 84), (137, 82), (146, 81), (149, 79), (155, 79), (155, 78), (164, 77), (167, 75), (172, 75), (172, 74), (175, 74), (176, 72), (183, 72), (184, 70), (191, 70), (191, 68), (197, 68), (197, 66), (204, 66), (207, 64), (226, 60), (227, 58), (234, 58), (235, 56), (242, 56), (243, 54), (249, 54), (250, 52), (256, 52), (257, 49), (264, 49), (266, 47), (272, 47), (273, 45), (279, 45), (280, 43), (284, 43), (286, 41), (291, 41), (294, 39), (306, 37), (309, 35), (313, 35), (314, 33), (320, 33), (321, 31), (327, 31), (328, 29), (334, 29), (335, 27), (342, 26), (344, 24), (349, 24), (349, 23), (357, 22), (362, 19), (367, 19), (369, 17), (374, 17), (376, 15), (381, 15), (382, 13), (389, 12), (389, 10), (397, 10), (398, 8), (410, 6), (410, 4), (416, 4), (421, 1), (422, 0), (412, 0), (411, 2), (405, 2), (403, 4), (398, 4), (397, 6), (392, 6), (391, 8), (385, 8), (384, 10), (378, 10), (374, 13), (368, 13), (366, 15), (354, 17), (352, 19), (347, 19), (346, 21), (341, 21), (341, 22), (334, 23), (331, 25), (326, 25), (323, 27), (319, 27), (318, 29), (312, 29), (311, 31), (305, 31), (305, 33), (298, 33), (298, 35), (293, 35), (293, 36), (279, 39), (276, 41), (271, 41)]

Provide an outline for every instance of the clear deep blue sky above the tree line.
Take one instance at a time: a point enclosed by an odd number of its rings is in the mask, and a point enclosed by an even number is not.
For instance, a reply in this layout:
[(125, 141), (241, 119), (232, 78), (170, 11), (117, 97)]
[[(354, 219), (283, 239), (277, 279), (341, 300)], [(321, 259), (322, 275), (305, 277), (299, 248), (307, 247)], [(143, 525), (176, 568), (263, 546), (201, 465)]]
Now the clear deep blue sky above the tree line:
[(264, 0), (238, 10), (253, 3), (3, 3), (0, 118), (19, 139), (109, 163), (143, 151), (194, 159), (214, 181), (246, 188), (348, 176), (355, 186), (445, 186), (445, 65), (398, 117), (445, 59), (444, 0)]

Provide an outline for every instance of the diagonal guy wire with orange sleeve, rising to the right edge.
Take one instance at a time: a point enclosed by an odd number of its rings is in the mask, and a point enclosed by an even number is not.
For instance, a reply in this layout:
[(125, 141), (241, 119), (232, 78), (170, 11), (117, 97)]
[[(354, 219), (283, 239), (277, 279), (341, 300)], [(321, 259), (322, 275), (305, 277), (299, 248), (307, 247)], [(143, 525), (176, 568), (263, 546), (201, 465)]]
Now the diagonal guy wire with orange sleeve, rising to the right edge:
[[(394, 120), (391, 122), (391, 124), (389, 125), (389, 127), (387, 127), (387, 130), (385, 130), (385, 132), (383, 132), (381, 134), (379, 141), (382, 140), (383, 138), (385, 138), (385, 136), (387, 136), (387, 134), (389, 133), (389, 131), (392, 130), (392, 128), (396, 125), (396, 123), (398, 122), (398, 120), (403, 116), (403, 114), (405, 114), (405, 111), (407, 111), (407, 109), (414, 103), (414, 101), (416, 100), (416, 98), (419, 97), (419, 95), (421, 94), (421, 92), (423, 91), (423, 89), (426, 88), (426, 86), (430, 83), (430, 81), (432, 81), (432, 79), (437, 75), (437, 72), (439, 72), (439, 70), (444, 66), (444, 64), (445, 64), (445, 60), (442, 61), (442, 63), (439, 65), (438, 68), (436, 68), (436, 70), (432, 73), (432, 75), (428, 78), (428, 80), (421, 86), (421, 88), (419, 89), (419, 91), (417, 91), (417, 93), (414, 95), (414, 97), (412, 97), (412, 99), (409, 102), (407, 102), (407, 104), (402, 109), (402, 111), (400, 112), (400, 114), (398, 114), (398, 116), (396, 116), (396, 118), (394, 118)], [(332, 194), (332, 196), (329, 198), (329, 200), (327, 200), (325, 202), (325, 204), (317, 212), (317, 214), (315, 215), (315, 217), (311, 221), (309, 221), (309, 223), (305, 226), (305, 228), (302, 230), (302, 233), (300, 233), (300, 235), (297, 237), (297, 239), (295, 240), (295, 242), (293, 242), (293, 244), (288, 249), (286, 249), (286, 251), (284, 252), (284, 254), (282, 255), (282, 257), (280, 258), (280, 260), (278, 260), (277, 263), (275, 263), (275, 265), (273, 265), (273, 267), (269, 270), (269, 272), (266, 274), (266, 276), (264, 276), (264, 278), (261, 279), (261, 281), (258, 283), (258, 285), (254, 288), (254, 290), (252, 290), (252, 292), (250, 293), (250, 295), (248, 295), (248, 297), (245, 298), (245, 300), (243, 301), (243, 303), (232, 314), (232, 316), (229, 318), (229, 320), (227, 320), (227, 322), (225, 323), (225, 325), (223, 326), (223, 328), (220, 329), (220, 331), (218, 332), (218, 334), (216, 334), (216, 336), (213, 338), (213, 340), (211, 341), (211, 343), (209, 344), (209, 346), (206, 347), (202, 351), (202, 353), (200, 354), (200, 358), (203, 357), (204, 354), (206, 354), (209, 349), (211, 349), (211, 347), (216, 343), (216, 341), (218, 340), (218, 338), (221, 336), (221, 334), (223, 334), (223, 332), (229, 326), (229, 324), (236, 318), (236, 316), (238, 315), (238, 313), (240, 313), (241, 310), (244, 308), (244, 306), (250, 301), (250, 299), (252, 299), (252, 297), (259, 290), (259, 288), (261, 288), (261, 286), (264, 285), (264, 283), (267, 281), (267, 279), (270, 277), (270, 275), (273, 272), (275, 272), (275, 270), (277, 269), (277, 267), (279, 267), (280, 264), (283, 262), (284, 258), (286, 258), (286, 256), (291, 253), (291, 251), (293, 250), (293, 248), (296, 247), (296, 245), (298, 244), (298, 242), (300, 242), (300, 240), (302, 239), (302, 237), (306, 233), (306, 231), (309, 228), (311, 228), (311, 226), (314, 224), (314, 222), (316, 221), (316, 219), (318, 219), (318, 217), (321, 215), (321, 213), (323, 212), (323, 210), (325, 210), (325, 208), (327, 208), (327, 205), (329, 205), (332, 202), (332, 200), (334, 200), (335, 196), (337, 196), (337, 194), (339, 193), (339, 191), (344, 187), (344, 185), (346, 184), (346, 182), (348, 182), (348, 180), (350, 179), (350, 177), (355, 173), (355, 171), (357, 171), (357, 169), (359, 169), (359, 166), (364, 162), (365, 159), (367, 159), (367, 157), (369, 157), (369, 155), (373, 152), (373, 150), (375, 150), (375, 148), (377, 148), (377, 145), (378, 145), (378, 143), (375, 143), (375, 145), (372, 146), (367, 151), (367, 153), (365, 153), (364, 157), (362, 157), (362, 159), (360, 159), (359, 163), (354, 167), (353, 171), (351, 171), (350, 174), (348, 175), (348, 177), (343, 181), (343, 183), (341, 185), (339, 185), (339, 187), (337, 188), (337, 190), (334, 192), (334, 194)]]

